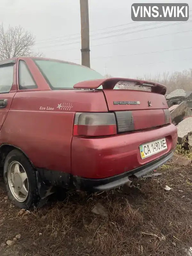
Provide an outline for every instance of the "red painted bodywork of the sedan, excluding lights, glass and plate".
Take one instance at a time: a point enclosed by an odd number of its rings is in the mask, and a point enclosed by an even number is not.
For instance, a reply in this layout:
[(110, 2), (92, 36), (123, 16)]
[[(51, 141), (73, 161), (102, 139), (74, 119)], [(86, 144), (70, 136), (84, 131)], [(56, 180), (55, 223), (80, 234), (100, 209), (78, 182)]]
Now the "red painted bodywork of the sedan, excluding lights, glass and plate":
[[(167, 105), (162, 105), (165, 101), (164, 96), (153, 92), (128, 93), (124, 90), (52, 91), (30, 58), (19, 59), (26, 61), (38, 88), (19, 90), (17, 60), (12, 90), (10, 93), (0, 94), (0, 99), (8, 99), (7, 108), (0, 109), (0, 126), (3, 124), (0, 144), (7, 143), (20, 148), (36, 167), (68, 172), (86, 178), (104, 178), (146, 164), (175, 147), (177, 128), (173, 124), (114, 136), (73, 137), (75, 112), (108, 112), (108, 108), (137, 110), (133, 111), (137, 127), (161, 125), (162, 109), (167, 108)], [(98, 85), (98, 82), (94, 83)], [(87, 84), (85, 82), (85, 87), (88, 86)], [(159, 85), (155, 85), (155, 88), (164, 89)], [(115, 106), (113, 101), (116, 100), (139, 100), (141, 104)], [(145, 110), (148, 109), (148, 100), (152, 103), (150, 114)], [(72, 104), (70, 110), (57, 108), (58, 104), (66, 102)], [(46, 110), (47, 107), (54, 109)], [(150, 116), (153, 119), (151, 121)], [(142, 160), (139, 145), (163, 137), (166, 137), (168, 149)]]

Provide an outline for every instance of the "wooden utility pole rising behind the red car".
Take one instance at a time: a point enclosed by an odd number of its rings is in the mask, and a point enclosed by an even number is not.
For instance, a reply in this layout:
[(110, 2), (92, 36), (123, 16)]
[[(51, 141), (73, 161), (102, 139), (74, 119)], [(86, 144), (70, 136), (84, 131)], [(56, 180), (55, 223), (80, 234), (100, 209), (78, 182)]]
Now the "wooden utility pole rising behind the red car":
[(88, 0), (80, 0), (81, 12), (81, 64), (90, 68), (89, 7)]

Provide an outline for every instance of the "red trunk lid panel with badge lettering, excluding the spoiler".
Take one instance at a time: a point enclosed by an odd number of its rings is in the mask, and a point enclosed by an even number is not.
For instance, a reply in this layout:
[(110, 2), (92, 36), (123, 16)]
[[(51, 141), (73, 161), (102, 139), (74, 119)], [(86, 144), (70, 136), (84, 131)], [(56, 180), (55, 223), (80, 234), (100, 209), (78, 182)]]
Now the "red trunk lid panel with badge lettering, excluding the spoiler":
[(128, 132), (166, 124), (164, 95), (138, 90), (103, 90), (109, 111), (114, 111), (117, 131)]

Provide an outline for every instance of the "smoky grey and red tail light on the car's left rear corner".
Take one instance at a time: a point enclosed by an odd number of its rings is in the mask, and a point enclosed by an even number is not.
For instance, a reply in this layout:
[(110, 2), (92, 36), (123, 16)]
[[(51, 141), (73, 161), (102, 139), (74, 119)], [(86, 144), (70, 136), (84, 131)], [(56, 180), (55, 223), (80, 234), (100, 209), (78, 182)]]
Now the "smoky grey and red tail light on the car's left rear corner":
[(73, 135), (106, 136), (117, 134), (114, 113), (76, 113)]

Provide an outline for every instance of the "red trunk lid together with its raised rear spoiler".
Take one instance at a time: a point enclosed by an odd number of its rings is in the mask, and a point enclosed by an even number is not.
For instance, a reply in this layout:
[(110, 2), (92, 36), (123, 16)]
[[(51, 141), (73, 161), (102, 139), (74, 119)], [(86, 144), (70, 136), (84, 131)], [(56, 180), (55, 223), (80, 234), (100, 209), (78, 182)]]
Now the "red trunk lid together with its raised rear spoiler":
[[(125, 81), (139, 90), (113, 89), (119, 81)], [(164, 85), (135, 79), (108, 78), (80, 82), (74, 88), (97, 89), (100, 85), (103, 87), (108, 110), (116, 115), (118, 133), (171, 123)], [(143, 91), (144, 87), (150, 91)]]

